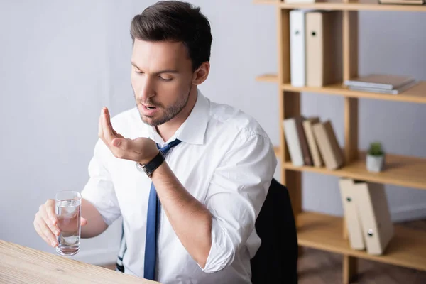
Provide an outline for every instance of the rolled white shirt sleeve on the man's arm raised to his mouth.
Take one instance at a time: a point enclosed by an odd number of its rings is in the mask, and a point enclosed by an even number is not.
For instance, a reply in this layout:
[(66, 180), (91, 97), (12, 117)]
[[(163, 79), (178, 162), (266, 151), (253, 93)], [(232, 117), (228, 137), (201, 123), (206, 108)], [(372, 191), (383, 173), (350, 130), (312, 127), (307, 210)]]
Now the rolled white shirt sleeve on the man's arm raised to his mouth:
[[(277, 159), (268, 136), (237, 137), (212, 175), (206, 206), (212, 213), (212, 247), (202, 271), (229, 266), (246, 245), (266, 199)], [(200, 267), (201, 268), (201, 267)]]

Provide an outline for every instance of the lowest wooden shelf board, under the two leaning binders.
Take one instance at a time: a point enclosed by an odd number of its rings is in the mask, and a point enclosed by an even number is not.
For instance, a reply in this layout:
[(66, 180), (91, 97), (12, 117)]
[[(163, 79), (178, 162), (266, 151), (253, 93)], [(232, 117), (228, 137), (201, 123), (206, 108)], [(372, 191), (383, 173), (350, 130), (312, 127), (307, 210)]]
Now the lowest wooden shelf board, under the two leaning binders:
[(426, 231), (395, 224), (395, 235), (382, 256), (351, 249), (343, 239), (343, 219), (326, 214), (302, 212), (297, 215), (297, 239), (300, 246), (371, 261), (426, 271)]

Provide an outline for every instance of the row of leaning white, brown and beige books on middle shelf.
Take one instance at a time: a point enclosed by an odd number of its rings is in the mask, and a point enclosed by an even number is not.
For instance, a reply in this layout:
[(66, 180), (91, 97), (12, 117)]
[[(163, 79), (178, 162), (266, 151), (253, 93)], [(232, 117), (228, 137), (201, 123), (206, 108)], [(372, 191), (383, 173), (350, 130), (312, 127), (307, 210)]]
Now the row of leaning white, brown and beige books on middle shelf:
[(317, 116), (295, 116), (284, 119), (283, 129), (293, 165), (325, 165), (329, 170), (335, 170), (344, 164), (342, 148), (331, 121), (320, 121)]

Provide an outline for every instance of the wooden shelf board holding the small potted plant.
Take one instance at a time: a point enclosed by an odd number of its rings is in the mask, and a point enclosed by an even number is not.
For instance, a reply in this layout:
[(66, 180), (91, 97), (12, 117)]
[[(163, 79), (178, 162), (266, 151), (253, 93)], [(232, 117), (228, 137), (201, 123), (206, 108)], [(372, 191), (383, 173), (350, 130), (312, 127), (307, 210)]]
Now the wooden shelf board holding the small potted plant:
[(426, 158), (386, 154), (385, 160), (386, 166), (381, 173), (371, 173), (366, 170), (365, 152), (360, 152), (358, 160), (349, 163), (349, 165), (344, 165), (338, 170), (328, 170), (324, 167), (317, 168), (313, 166), (298, 167), (291, 162), (283, 163), (283, 167), (288, 170), (336, 175), (338, 177), (426, 190)]

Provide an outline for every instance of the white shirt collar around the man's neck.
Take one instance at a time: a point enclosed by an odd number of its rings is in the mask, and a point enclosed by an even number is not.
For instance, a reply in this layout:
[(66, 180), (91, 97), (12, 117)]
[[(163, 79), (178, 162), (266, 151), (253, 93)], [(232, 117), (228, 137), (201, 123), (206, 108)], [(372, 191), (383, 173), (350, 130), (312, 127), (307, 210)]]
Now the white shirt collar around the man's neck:
[[(209, 99), (204, 97), (200, 89), (197, 89), (197, 101), (190, 115), (178, 128), (175, 134), (166, 143), (179, 139), (182, 142), (202, 145), (204, 144), (204, 134), (206, 133), (207, 124), (209, 122), (210, 106)], [(160, 145), (164, 144), (160, 134), (158, 134), (155, 127), (148, 127), (150, 136), (155, 142), (160, 142)]]

